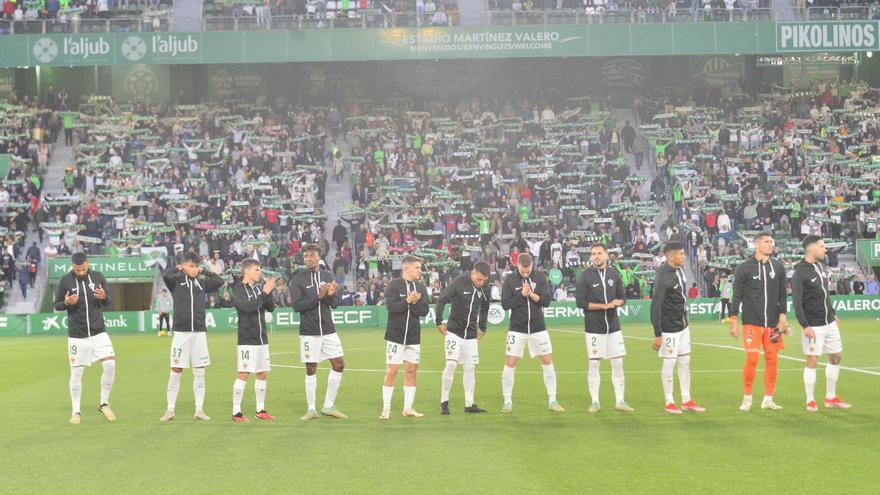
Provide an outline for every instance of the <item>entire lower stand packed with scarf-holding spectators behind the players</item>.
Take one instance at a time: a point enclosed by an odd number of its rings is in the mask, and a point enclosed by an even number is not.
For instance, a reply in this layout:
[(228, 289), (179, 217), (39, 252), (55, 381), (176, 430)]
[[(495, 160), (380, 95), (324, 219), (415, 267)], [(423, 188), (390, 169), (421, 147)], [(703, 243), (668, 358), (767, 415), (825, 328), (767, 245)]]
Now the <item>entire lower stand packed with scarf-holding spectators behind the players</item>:
[[(164, 248), (230, 275), (256, 253), (284, 280), (302, 265), (301, 246), (318, 242), (347, 304), (381, 304), (406, 253), (428, 261), (436, 298), (474, 262), (489, 262), (494, 282), (528, 252), (556, 298), (569, 299), (602, 242), (629, 294), (647, 297), (660, 245), (679, 240), (696, 294), (717, 297), (751, 235), (769, 229), (789, 261), (803, 235), (838, 241), (829, 243), (836, 292), (871, 280), (836, 253), (878, 235), (878, 164), (860, 157), (877, 152), (880, 95), (863, 84), (752, 93), (694, 84), (641, 95), (625, 113), (591, 96), (340, 107), (90, 97), (59, 112), (66, 103), (50, 94), (43, 109), (25, 102), (30, 120), (7, 131), (19, 140), (5, 146), (24, 160), (6, 182), (7, 212), (21, 206), (4, 217), (19, 232), (11, 259), (23, 259), (35, 220), (41, 242), (48, 234), (44, 256)], [(69, 132), (74, 145), (52, 193), (39, 185), (40, 149), (50, 150), (36, 129), (25, 132), (34, 122), (48, 143)], [(330, 205), (328, 189), (341, 194)], [(212, 305), (228, 304), (226, 293)], [(277, 297), (290, 302), (283, 288)]]

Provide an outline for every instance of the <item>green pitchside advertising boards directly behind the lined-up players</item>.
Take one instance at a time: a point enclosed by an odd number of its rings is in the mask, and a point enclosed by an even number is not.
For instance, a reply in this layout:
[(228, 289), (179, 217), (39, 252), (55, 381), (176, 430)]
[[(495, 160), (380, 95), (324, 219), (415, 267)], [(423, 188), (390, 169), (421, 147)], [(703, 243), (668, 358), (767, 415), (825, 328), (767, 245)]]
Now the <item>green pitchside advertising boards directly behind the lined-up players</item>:
[[(834, 296), (834, 309), (844, 318), (876, 317), (880, 315), (880, 296)], [(580, 325), (583, 323), (583, 310), (574, 303), (552, 303), (544, 308), (544, 319), (551, 328), (555, 325)], [(621, 322), (626, 324), (651, 321), (651, 301), (628, 301), (618, 308)], [(721, 313), (718, 299), (691, 299), (688, 313), (692, 321), (717, 320)], [(789, 301), (789, 314), (795, 320)], [(433, 326), (434, 307), (422, 319), (423, 325)], [(209, 309), (206, 313), (209, 332), (232, 332), (238, 325), (234, 309)], [(159, 315), (155, 311), (118, 311), (104, 313), (104, 321), (110, 333), (157, 332)], [(267, 315), (267, 323), (272, 331), (295, 331), (299, 329), (299, 315), (290, 308), (277, 308)], [(352, 306), (333, 311), (333, 322), (340, 329), (384, 328), (388, 312), (383, 306)], [(493, 303), (489, 308), (488, 322), (491, 326), (504, 326), (509, 321), (509, 313), (500, 304)], [(66, 335), (67, 315), (64, 312), (39, 313), (33, 315), (3, 315), (0, 317), (0, 336), (5, 335)]]

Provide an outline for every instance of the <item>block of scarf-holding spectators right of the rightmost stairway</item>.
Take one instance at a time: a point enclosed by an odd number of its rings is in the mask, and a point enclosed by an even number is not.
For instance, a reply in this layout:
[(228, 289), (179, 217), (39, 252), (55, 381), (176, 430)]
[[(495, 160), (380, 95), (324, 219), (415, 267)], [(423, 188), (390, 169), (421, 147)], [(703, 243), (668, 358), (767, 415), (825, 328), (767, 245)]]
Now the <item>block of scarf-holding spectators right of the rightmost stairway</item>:
[(665, 230), (689, 246), (700, 295), (720, 294), (758, 231), (774, 232), (777, 256), (788, 263), (799, 258), (804, 236), (826, 238), (835, 292), (857, 292), (865, 279), (839, 265), (838, 253), (880, 235), (878, 102), (880, 93), (864, 84), (816, 81), (637, 103), (652, 115), (642, 130), (663, 179), (652, 185), (654, 196), (672, 200)]

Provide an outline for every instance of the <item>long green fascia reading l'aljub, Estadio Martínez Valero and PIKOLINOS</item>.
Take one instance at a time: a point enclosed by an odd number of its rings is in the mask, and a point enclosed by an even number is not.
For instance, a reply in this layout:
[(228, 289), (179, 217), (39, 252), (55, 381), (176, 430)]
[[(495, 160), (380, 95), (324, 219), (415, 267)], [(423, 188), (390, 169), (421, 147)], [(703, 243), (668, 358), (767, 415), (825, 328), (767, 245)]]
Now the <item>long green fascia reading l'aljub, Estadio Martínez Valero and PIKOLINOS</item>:
[(876, 50), (877, 43), (877, 21), (17, 34), (0, 37), (0, 67), (772, 55)]

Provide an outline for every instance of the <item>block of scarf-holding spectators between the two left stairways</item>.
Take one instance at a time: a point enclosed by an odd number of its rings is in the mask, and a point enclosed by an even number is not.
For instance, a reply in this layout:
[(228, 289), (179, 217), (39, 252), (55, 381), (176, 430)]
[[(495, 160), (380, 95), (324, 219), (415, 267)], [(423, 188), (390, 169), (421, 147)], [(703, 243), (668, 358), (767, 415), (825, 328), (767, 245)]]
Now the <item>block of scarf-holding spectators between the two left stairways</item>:
[[(109, 97), (62, 112), (76, 160), (63, 194), (40, 202), (46, 256), (195, 252), (230, 276), (256, 257), (264, 272), (289, 277), (303, 244), (327, 253), (328, 112), (335, 109), (124, 105)], [(214, 295), (217, 304), (225, 293)], [(285, 284), (277, 295), (287, 295)]]

